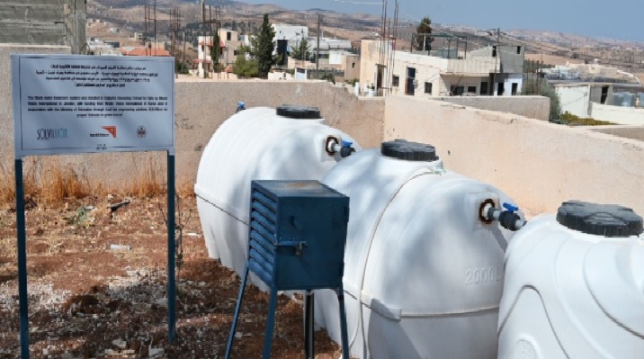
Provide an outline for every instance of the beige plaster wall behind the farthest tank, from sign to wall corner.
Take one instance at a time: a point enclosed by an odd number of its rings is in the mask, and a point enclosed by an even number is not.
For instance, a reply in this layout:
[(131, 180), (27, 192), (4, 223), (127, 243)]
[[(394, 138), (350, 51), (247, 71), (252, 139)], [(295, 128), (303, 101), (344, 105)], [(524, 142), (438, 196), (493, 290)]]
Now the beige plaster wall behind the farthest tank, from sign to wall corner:
[(177, 176), (194, 177), (201, 149), (237, 109), (283, 103), (318, 106), (327, 124), (349, 133), (362, 147), (377, 147), (383, 136), (382, 98), (358, 99), (327, 82), (218, 81), (177, 82)]

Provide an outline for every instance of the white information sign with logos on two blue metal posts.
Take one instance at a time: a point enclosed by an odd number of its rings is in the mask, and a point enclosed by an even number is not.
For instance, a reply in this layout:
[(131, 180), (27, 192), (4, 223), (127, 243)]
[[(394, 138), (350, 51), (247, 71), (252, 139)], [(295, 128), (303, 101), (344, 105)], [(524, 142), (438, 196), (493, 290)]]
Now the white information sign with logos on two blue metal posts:
[(174, 58), (12, 55), (20, 350), (29, 358), (22, 157), (167, 153), (168, 343), (174, 343)]

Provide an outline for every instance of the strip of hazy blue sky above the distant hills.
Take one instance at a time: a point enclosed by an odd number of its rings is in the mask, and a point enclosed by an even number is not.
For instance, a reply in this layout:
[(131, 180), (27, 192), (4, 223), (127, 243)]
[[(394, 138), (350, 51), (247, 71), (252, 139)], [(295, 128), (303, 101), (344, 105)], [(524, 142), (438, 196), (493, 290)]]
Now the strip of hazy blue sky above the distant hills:
[[(338, 13), (380, 16), (377, 0), (241, 0), (246, 4), (277, 4), (292, 10), (320, 8)], [(393, 17), (395, 0), (388, 0)], [(589, 37), (644, 42), (644, 0), (398, 0), (400, 21), (432, 22), (497, 28), (571, 32)]]

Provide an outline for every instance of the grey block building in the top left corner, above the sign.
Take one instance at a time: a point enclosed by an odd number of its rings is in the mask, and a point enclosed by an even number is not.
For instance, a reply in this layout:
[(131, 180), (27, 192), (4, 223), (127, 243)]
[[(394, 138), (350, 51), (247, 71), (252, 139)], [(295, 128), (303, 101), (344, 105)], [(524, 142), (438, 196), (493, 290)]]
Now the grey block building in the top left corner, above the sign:
[(0, 6), (0, 43), (85, 46), (85, 1), (22, 0)]

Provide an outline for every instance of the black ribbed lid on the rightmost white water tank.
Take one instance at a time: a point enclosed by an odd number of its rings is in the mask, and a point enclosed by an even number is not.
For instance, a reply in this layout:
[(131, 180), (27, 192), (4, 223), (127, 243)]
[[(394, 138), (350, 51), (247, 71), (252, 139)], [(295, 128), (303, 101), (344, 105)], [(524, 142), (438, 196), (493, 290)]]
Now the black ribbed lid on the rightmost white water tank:
[(631, 237), (642, 233), (642, 218), (633, 210), (616, 204), (580, 201), (563, 202), (557, 221), (568, 229), (604, 237)]

